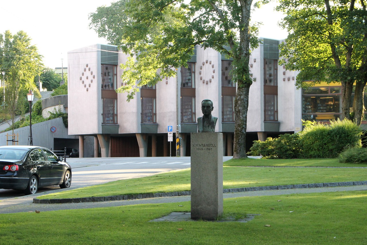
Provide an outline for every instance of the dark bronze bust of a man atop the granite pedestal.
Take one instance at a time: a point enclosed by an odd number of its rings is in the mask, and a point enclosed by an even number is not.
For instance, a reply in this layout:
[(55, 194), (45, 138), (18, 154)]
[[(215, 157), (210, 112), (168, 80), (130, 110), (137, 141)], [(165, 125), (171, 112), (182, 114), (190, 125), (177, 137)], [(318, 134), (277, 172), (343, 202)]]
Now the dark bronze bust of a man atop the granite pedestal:
[(213, 109), (213, 102), (211, 100), (205, 99), (201, 102), (201, 112), (203, 113), (203, 117), (197, 118), (197, 132), (215, 132), (215, 124), (217, 124), (218, 117), (213, 117), (211, 115)]

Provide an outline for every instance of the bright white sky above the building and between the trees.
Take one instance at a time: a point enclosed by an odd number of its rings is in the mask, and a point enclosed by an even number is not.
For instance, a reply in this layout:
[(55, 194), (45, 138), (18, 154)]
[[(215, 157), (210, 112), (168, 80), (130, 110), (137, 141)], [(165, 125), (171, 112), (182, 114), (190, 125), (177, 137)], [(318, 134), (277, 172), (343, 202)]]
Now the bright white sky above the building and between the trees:
[[(109, 6), (112, 0), (9, 0), (0, 4), (0, 33), (10, 30), (12, 34), (25, 31), (32, 38), (39, 53), (44, 56), (47, 67), (67, 67), (67, 53), (71, 50), (96, 43), (105, 44), (105, 39), (89, 29), (88, 15), (99, 6)], [(284, 39), (286, 30), (277, 26), (282, 14), (274, 10), (275, 4), (263, 6), (251, 13), (251, 21), (262, 22), (259, 36)], [(63, 61), (61, 61), (63, 59)]]

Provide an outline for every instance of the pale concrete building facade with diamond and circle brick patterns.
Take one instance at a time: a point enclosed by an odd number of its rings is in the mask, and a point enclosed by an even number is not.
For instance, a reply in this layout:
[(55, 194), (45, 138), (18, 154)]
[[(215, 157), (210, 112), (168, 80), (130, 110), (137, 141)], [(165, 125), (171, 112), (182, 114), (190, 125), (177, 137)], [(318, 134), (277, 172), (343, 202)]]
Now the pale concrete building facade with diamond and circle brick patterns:
[[(253, 140), (294, 133), (302, 129), (302, 93), (295, 87), (297, 72), (278, 66), (279, 40), (263, 39), (250, 58), (253, 84), (247, 116), (247, 150)], [(126, 54), (112, 45), (92, 45), (68, 52), (69, 134), (94, 136), (102, 157), (175, 155), (168, 142), (167, 126), (178, 131), (181, 155), (190, 152), (190, 132), (197, 132), (201, 101), (214, 103), (216, 132), (223, 133), (224, 155), (233, 154), (234, 98), (232, 61), (213, 49), (195, 49), (188, 68), (176, 69), (177, 77), (163, 78), (143, 87), (134, 99), (115, 92), (122, 84), (121, 63)], [(171, 149), (170, 149), (171, 148)], [(82, 157), (82, 156), (81, 156)]]

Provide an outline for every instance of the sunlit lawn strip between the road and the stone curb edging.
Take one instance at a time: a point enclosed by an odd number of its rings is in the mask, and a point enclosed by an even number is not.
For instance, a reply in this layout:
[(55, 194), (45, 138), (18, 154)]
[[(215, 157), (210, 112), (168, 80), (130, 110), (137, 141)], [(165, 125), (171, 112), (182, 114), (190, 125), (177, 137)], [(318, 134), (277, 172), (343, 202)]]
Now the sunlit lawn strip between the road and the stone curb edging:
[[(250, 161), (249, 161), (250, 160)], [(325, 161), (325, 160), (328, 160)], [(322, 182), (344, 182), (367, 180), (367, 168), (259, 168), (259, 167), (230, 167), (253, 166), (252, 162), (264, 162), (277, 166), (317, 166), (320, 162), (327, 162), (333, 166), (333, 159), (312, 159), (299, 161), (292, 160), (230, 160), (226, 161), (223, 168), (224, 188), (258, 187), (269, 185), (311, 184)], [(335, 161), (335, 165), (338, 162)], [(344, 164), (345, 166), (346, 164)], [(363, 166), (363, 165), (359, 165)], [(52, 198), (81, 198), (90, 196), (114, 196), (141, 193), (159, 193), (190, 190), (190, 169), (171, 171), (150, 177), (119, 180), (91, 187), (66, 190), (58, 193), (40, 196), (40, 199)]]

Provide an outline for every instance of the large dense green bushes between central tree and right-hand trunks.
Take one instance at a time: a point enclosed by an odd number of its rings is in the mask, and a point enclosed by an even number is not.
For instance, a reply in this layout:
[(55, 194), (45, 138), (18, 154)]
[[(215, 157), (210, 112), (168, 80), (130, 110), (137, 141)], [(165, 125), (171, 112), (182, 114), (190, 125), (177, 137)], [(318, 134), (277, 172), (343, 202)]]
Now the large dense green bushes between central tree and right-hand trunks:
[(343, 150), (361, 147), (362, 131), (350, 120), (331, 120), (330, 124), (304, 121), (304, 129), (266, 141), (254, 141), (248, 155), (264, 158), (331, 158)]

